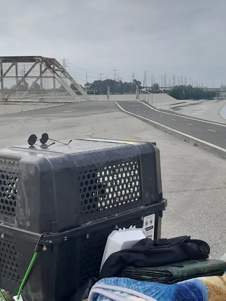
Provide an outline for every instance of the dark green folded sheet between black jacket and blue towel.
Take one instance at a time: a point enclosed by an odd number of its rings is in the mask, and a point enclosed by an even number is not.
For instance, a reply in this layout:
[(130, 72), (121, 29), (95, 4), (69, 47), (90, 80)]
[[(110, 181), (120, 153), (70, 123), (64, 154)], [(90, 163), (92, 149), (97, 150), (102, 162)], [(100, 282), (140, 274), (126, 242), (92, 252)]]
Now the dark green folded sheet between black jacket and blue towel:
[(226, 262), (215, 259), (189, 260), (157, 267), (127, 267), (119, 277), (173, 284), (201, 276), (222, 276)]

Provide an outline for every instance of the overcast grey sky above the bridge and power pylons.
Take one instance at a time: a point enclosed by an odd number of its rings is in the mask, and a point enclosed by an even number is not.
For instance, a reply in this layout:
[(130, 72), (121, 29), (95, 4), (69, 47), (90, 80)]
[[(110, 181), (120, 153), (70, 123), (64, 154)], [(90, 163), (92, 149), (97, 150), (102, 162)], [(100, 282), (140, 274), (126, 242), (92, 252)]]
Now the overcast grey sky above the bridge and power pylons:
[[(226, 84), (226, 0), (1, 0), (0, 55), (69, 59), (97, 74)], [(78, 80), (79, 81), (79, 80)], [(172, 81), (172, 79), (171, 79)]]

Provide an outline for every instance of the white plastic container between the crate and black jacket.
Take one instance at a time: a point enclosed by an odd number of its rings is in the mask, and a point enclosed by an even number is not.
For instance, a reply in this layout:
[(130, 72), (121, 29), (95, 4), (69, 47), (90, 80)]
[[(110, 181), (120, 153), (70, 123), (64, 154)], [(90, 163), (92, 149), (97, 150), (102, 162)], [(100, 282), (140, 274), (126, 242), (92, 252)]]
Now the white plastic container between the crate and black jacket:
[(110, 233), (107, 238), (106, 246), (100, 270), (106, 259), (115, 252), (133, 247), (138, 241), (146, 238), (143, 228), (130, 227), (129, 229), (119, 229)]

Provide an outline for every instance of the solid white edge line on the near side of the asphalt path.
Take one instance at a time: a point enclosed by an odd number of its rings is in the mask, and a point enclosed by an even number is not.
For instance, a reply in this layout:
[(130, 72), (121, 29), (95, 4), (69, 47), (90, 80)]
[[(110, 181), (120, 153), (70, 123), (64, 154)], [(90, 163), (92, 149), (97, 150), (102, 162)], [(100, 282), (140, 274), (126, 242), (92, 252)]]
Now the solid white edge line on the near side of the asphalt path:
[[(188, 135), (188, 134), (183, 133), (183, 132), (181, 132), (181, 131), (179, 131), (179, 130), (176, 130), (176, 129), (172, 128), (172, 127), (166, 126), (166, 125), (164, 125), (164, 124), (161, 124), (161, 123), (159, 123), (159, 122), (153, 121), (153, 120), (151, 120), (151, 119), (148, 119), (148, 118), (146, 118), (146, 117), (140, 116), (140, 115), (138, 115), (138, 114), (131, 113), (131, 112), (125, 110), (123, 107), (121, 107), (121, 105), (119, 105), (117, 101), (116, 101), (116, 104), (118, 105), (118, 107), (119, 107), (123, 112), (126, 112), (126, 113), (128, 113), (128, 114), (130, 114), (130, 115), (137, 116), (137, 117), (139, 117), (139, 118), (141, 118), (141, 119), (144, 119), (144, 120), (147, 120), (147, 121), (149, 121), (149, 122), (155, 123), (155, 124), (157, 124), (157, 125), (159, 125), (159, 126), (162, 126), (162, 127), (166, 128), (166, 129), (168, 129), (168, 130), (174, 131), (174, 132), (176, 132), (176, 133), (178, 133), (178, 134), (180, 134), (180, 135), (184, 135), (184, 136), (186, 136), (186, 137), (188, 137), (188, 138), (190, 138), (190, 139), (193, 139), (193, 140), (196, 140), (196, 141), (198, 141), (198, 142), (204, 143), (204, 144), (206, 144), (206, 145), (208, 145), (208, 146), (211, 146), (211, 147), (213, 147), (213, 148), (216, 148), (216, 149), (218, 149), (218, 150), (221, 150), (221, 152), (226, 153), (226, 149), (223, 148), (223, 147), (220, 147), (220, 146), (218, 146), (218, 145), (209, 143), (209, 142), (207, 142), (207, 141), (205, 141), (205, 140), (196, 138), (196, 137), (194, 137), (194, 136)], [(225, 124), (225, 126), (226, 126), (226, 124)]]

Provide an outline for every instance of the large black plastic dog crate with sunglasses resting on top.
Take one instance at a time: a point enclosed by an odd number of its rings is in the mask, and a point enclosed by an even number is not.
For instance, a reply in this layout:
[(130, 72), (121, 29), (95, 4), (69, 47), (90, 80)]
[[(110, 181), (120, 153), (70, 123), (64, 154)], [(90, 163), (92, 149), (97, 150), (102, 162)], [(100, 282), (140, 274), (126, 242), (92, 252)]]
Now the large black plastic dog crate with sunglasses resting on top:
[(98, 276), (108, 235), (143, 227), (160, 237), (159, 149), (149, 142), (74, 140), (0, 151), (0, 287), (17, 293), (40, 234), (44, 250), (23, 289), (26, 301), (64, 300)]

